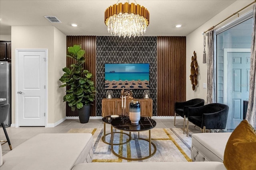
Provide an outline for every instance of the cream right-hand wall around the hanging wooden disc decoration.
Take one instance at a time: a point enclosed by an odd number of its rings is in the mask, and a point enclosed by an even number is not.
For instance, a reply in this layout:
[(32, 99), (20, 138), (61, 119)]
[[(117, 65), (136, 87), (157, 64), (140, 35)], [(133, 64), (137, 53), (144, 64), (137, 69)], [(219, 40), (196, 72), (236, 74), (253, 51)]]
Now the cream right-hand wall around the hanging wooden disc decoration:
[[(204, 23), (198, 29), (187, 35), (186, 37), (186, 100), (190, 100), (193, 98), (202, 98), (206, 101), (207, 97), (207, 89), (203, 89), (203, 83), (207, 84), (207, 63), (203, 64), (203, 50), (204, 50), (204, 36), (202, 32), (208, 30), (210, 27), (216, 25), (220, 21), (224, 20), (228, 16), (234, 14), (241, 8), (244, 8), (248, 4), (250, 4), (252, 0), (237, 0), (228, 8), (214, 16), (212, 19)], [(252, 5), (240, 12), (240, 16), (245, 14), (246, 12), (252, 10)], [(235, 20), (237, 16), (233, 16), (229, 20), (225, 21), (221, 25), (218, 25), (216, 28), (221, 27), (232, 20)], [(192, 84), (190, 82), (190, 63), (191, 57), (193, 56), (193, 52), (196, 51), (198, 67), (199, 67), (199, 75), (198, 75), (198, 85), (196, 86), (196, 90), (192, 90)], [(207, 57), (207, 37), (206, 37), (206, 57)]]

